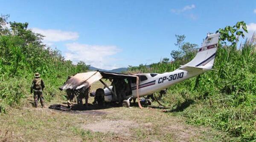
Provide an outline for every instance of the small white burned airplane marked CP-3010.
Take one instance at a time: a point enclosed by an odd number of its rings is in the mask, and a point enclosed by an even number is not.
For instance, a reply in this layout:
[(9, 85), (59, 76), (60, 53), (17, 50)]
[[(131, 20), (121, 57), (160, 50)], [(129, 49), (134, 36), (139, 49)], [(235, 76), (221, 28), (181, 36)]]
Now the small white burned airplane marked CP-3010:
[(212, 66), (214, 64), (215, 54), (218, 47), (218, 37), (218, 33), (207, 35), (195, 58), (189, 61), (189, 63), (181, 65), (177, 70), (172, 72), (165, 72), (162, 74), (125, 74), (102, 71), (84, 72), (74, 75), (72, 78), (67, 80), (66, 83), (60, 87), (60, 89), (76, 90), (81, 89), (82, 87), (85, 87), (86, 89), (96, 81), (100, 81), (105, 86), (105, 102), (118, 102), (120, 101), (118, 99), (120, 97), (118, 97), (119, 94), (116, 93), (118, 90), (116, 90), (115, 84), (108, 86), (102, 81), (102, 78), (113, 81), (123, 80), (125, 81), (125, 85), (123, 86), (123, 88), (125, 88), (125, 97), (122, 97), (122, 105), (129, 107), (131, 99), (139, 99), (139, 97), (150, 95), (181, 81), (195, 77), (196, 75), (213, 70)]

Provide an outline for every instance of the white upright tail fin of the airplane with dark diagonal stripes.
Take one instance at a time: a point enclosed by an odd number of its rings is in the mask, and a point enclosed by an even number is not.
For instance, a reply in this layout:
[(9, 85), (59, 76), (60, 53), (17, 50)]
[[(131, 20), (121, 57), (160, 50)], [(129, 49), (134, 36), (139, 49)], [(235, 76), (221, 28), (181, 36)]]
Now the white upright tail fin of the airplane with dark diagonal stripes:
[(199, 49), (195, 58), (193, 58), (187, 64), (181, 66), (182, 67), (196, 67), (202, 69), (212, 69), (216, 50), (218, 47), (218, 37), (220, 34), (210, 34), (207, 35), (202, 47)]

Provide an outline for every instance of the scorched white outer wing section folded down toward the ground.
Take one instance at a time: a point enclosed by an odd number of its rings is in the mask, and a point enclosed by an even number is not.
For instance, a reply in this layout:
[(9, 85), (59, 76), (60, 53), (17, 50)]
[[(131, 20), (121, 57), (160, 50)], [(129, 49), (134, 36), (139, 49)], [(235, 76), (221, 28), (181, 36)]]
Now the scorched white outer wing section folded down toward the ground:
[(98, 71), (94, 72), (84, 72), (78, 73), (74, 75), (72, 78), (68, 79), (64, 85), (62, 85), (59, 89), (80, 89), (85, 87), (86, 89), (91, 86), (96, 81), (99, 81), (102, 78), (102, 75)]

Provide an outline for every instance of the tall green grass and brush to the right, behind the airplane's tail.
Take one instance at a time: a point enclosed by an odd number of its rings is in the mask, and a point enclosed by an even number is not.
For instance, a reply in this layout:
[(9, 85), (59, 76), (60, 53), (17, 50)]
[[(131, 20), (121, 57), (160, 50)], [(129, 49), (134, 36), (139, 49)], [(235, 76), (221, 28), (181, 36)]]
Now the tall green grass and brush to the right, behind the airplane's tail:
[[(255, 36), (252, 37), (255, 39)], [(157, 63), (143, 72), (167, 72), (179, 63)], [(219, 46), (214, 68), (171, 86), (163, 102), (187, 123), (227, 131), (234, 140), (256, 139), (256, 45)], [(135, 69), (134, 70), (139, 70)], [(133, 71), (134, 71), (133, 70)], [(136, 71), (135, 71), (136, 72)]]

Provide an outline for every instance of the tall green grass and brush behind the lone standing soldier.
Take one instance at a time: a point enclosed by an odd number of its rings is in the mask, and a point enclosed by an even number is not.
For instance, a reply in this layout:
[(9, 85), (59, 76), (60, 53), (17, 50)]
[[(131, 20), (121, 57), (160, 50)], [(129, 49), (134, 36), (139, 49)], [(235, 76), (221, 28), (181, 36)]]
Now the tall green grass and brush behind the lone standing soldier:
[[(64, 61), (58, 50), (39, 42), (36, 33), (23, 29), (29, 37), (6, 34), (0, 36), (0, 113), (6, 113), (9, 106), (19, 106), (28, 97), (34, 73), (39, 72), (44, 79), (46, 88), (44, 97), (50, 101), (61, 94), (58, 87), (68, 75), (84, 72), (88, 67), (81, 63), (73, 65)], [(22, 34), (23, 35), (23, 34)]]

